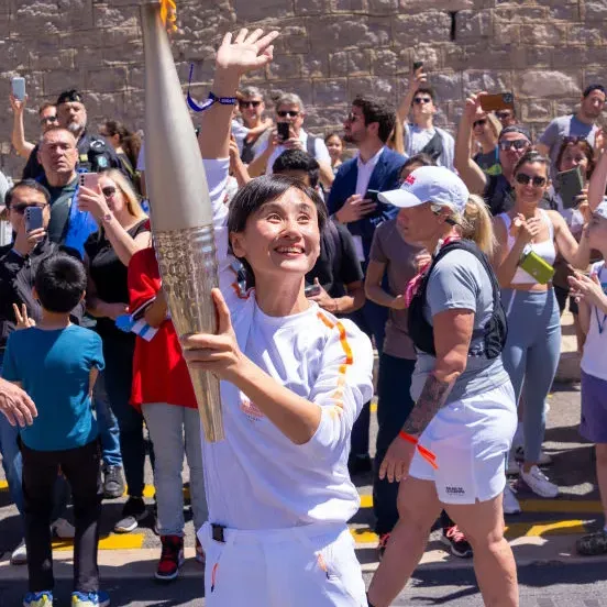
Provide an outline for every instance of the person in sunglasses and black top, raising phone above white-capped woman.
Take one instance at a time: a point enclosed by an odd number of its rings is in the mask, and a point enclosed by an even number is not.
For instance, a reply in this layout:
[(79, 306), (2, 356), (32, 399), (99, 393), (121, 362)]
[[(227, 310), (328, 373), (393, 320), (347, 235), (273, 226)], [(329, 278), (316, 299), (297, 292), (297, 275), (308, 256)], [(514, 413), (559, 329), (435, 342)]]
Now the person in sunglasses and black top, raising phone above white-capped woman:
[[(484, 113), (481, 108), (483, 95), (486, 93), (471, 95), (466, 100), (455, 140), (455, 169), (471, 194), (483, 196), (492, 214), (497, 216), (509, 211), (514, 205), (515, 166), (531, 146), (531, 136), (521, 125), (504, 129), (497, 140), (501, 175), (487, 175), (472, 158), (473, 124)], [(552, 208), (548, 199), (543, 206)]]

